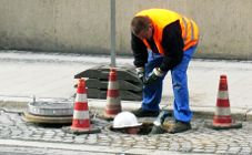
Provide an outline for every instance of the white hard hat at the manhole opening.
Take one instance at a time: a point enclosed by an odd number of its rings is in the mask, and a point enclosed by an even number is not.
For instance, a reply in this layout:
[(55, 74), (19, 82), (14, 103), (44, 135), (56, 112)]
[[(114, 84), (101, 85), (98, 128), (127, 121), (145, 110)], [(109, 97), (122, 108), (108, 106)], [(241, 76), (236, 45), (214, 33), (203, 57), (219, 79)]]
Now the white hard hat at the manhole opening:
[(134, 114), (131, 112), (121, 112), (113, 120), (113, 128), (137, 127), (142, 125), (138, 123)]

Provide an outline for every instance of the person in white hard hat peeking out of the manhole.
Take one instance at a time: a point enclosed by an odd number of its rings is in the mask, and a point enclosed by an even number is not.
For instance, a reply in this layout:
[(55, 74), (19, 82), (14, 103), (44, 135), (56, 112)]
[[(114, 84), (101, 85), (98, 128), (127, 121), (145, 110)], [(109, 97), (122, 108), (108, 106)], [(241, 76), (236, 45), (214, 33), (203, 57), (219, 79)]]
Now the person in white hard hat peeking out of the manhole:
[(123, 134), (137, 135), (141, 125), (131, 112), (121, 112), (113, 120), (113, 131)]

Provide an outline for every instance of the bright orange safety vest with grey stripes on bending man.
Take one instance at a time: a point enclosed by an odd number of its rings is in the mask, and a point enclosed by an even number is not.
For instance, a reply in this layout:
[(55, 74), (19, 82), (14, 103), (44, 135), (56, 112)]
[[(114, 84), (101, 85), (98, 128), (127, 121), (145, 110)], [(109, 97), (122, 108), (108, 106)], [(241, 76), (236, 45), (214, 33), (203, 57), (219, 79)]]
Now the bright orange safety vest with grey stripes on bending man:
[[(189, 49), (192, 45), (195, 45), (198, 43), (199, 39), (199, 29), (192, 20), (189, 20), (185, 17), (182, 17), (173, 11), (165, 10), (165, 9), (149, 9), (149, 10), (143, 10), (139, 12), (135, 17), (144, 16), (151, 19), (152, 24), (154, 27), (154, 33), (153, 33), (153, 40), (155, 42), (155, 45), (159, 50), (159, 53), (164, 55), (164, 49), (161, 45), (162, 42), (162, 34), (163, 34), (163, 29), (179, 20), (181, 30), (182, 30), (182, 38), (184, 41), (184, 48), (183, 51)], [(144, 44), (151, 49), (147, 40), (143, 40)]]

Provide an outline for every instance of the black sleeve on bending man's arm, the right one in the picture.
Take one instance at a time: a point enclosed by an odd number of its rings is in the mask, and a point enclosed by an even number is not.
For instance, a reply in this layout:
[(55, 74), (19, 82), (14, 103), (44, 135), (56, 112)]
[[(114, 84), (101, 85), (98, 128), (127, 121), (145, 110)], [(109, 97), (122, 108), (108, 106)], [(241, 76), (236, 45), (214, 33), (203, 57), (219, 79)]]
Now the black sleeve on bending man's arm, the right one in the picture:
[(183, 39), (179, 20), (163, 29), (161, 45), (164, 49), (164, 59), (160, 66), (162, 71), (172, 70), (183, 60)]

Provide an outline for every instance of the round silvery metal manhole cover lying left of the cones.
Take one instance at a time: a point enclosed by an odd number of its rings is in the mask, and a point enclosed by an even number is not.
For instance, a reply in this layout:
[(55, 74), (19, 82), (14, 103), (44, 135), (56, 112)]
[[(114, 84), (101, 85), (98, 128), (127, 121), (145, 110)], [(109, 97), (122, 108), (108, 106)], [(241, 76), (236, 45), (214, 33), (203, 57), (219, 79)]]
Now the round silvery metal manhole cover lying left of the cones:
[(50, 101), (28, 103), (30, 114), (39, 116), (72, 116), (73, 101)]

